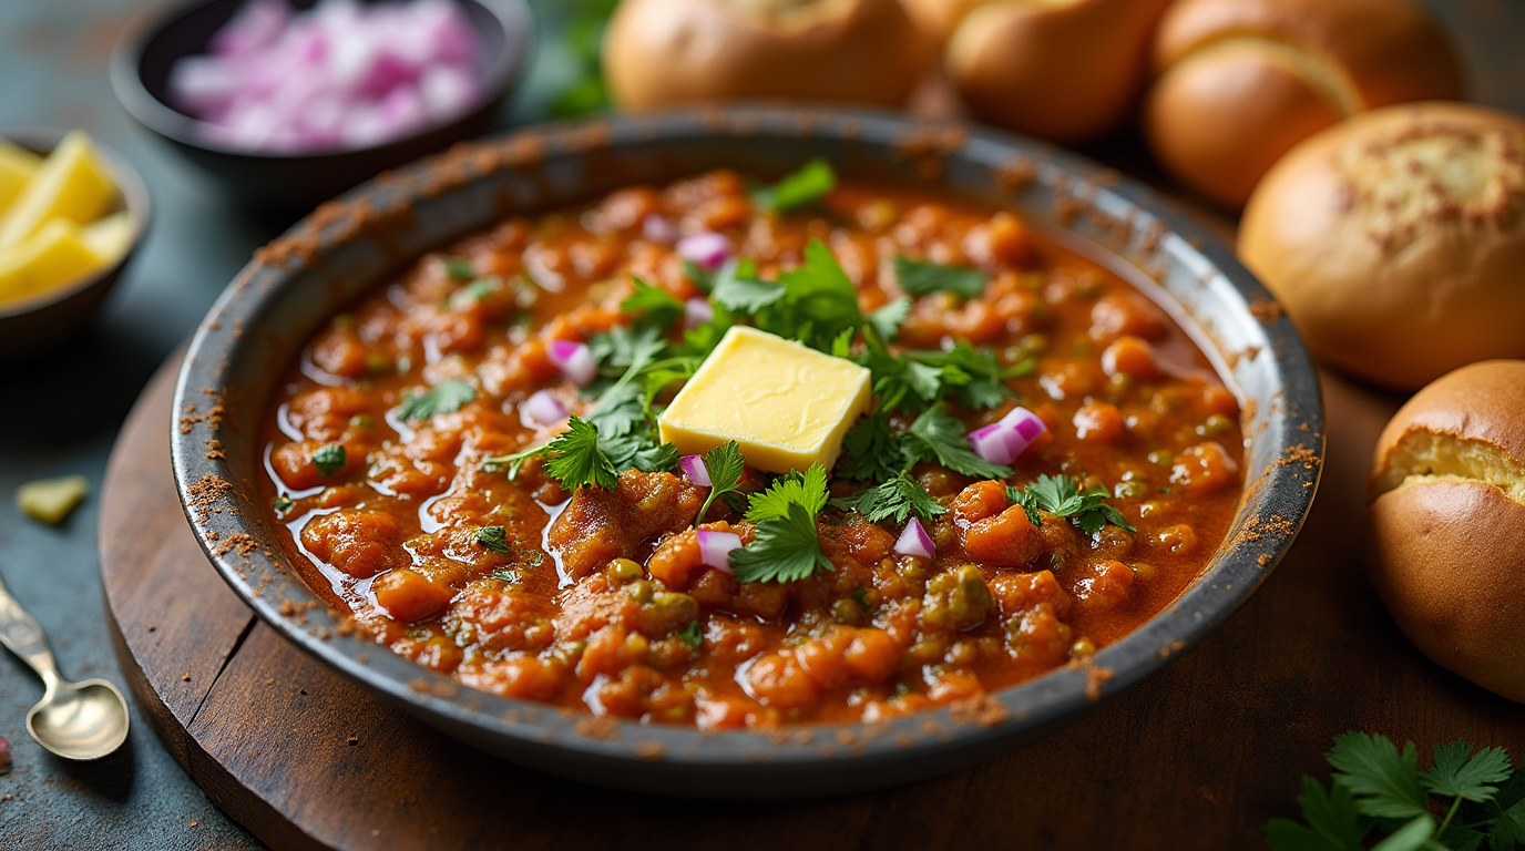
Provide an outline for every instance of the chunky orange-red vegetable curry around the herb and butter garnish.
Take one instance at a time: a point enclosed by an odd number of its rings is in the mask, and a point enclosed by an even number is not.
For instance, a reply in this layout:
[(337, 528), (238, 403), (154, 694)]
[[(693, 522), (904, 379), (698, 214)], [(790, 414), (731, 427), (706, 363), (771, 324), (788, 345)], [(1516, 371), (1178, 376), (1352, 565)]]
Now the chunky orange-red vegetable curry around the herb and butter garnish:
[[(567, 429), (520, 410), (537, 390), (595, 407), (549, 345), (631, 322), (633, 278), (705, 297), (706, 273), (673, 244), (694, 232), (726, 236), (764, 281), (820, 239), (865, 313), (903, 294), (897, 256), (978, 270), (973, 297), (915, 297), (894, 351), (973, 346), (1005, 398), (947, 410), (973, 430), (1020, 404), (1046, 433), (1003, 480), (909, 468), (941, 509), (926, 517), (933, 558), (895, 552), (904, 523), (828, 506), (816, 532), (833, 569), (788, 583), (703, 563), (695, 522), (744, 544), (756, 526), (721, 499), (697, 519), (709, 488), (676, 467), (567, 493), (544, 454), (482, 464)], [(400, 413), (444, 383), (454, 400)], [(358, 630), (482, 691), (703, 729), (872, 721), (1083, 660), (1202, 572), (1243, 490), (1237, 400), (1159, 307), (1010, 212), (865, 185), (779, 214), (720, 171), (512, 218), (334, 317), (278, 387), (262, 487), (287, 554)], [(1040, 474), (1104, 493), (1125, 523), (1086, 534), (1042, 509), (1034, 525), (1008, 485)], [(770, 479), (749, 468), (740, 490)]]

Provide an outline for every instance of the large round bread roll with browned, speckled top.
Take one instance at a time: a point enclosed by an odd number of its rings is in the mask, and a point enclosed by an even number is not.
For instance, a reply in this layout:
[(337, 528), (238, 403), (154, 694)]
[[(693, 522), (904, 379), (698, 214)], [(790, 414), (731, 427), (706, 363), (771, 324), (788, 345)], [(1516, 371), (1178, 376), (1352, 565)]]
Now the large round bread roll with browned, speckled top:
[(1397, 389), (1525, 357), (1525, 120), (1386, 107), (1266, 175), (1238, 255), (1322, 361)]

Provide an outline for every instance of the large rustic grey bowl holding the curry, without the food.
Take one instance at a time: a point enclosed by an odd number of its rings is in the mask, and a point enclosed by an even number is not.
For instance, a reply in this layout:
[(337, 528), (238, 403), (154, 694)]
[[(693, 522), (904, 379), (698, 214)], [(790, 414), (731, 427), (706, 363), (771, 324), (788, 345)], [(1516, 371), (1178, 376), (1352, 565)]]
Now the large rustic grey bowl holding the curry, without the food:
[[(508, 215), (717, 166), (776, 175), (817, 156), (848, 178), (932, 186), (1048, 223), (1138, 281), (1214, 355), (1246, 400), (1250, 485), (1228, 540), (1176, 604), (1100, 651), (1093, 666), (1060, 668), (999, 691), (979, 712), (944, 708), (779, 734), (587, 724), (587, 715), (476, 692), (355, 634), (337, 634), (322, 607), (290, 615), (317, 598), (279, 555), (256, 493), (264, 474), (258, 422), (281, 368), (331, 314), (422, 252)], [(261, 252), (201, 323), (175, 412), (212, 406), (221, 406), (218, 418), (185, 419), (171, 435), (175, 482), (212, 563), (276, 630), (482, 750), (590, 782), (709, 798), (897, 784), (991, 758), (1077, 720), (1196, 645), (1255, 592), (1302, 525), (1324, 451), (1318, 380), (1292, 323), (1226, 247), (1144, 186), (994, 131), (781, 107), (528, 130), (351, 192)], [(209, 454), (209, 439), (221, 441), (221, 451)]]

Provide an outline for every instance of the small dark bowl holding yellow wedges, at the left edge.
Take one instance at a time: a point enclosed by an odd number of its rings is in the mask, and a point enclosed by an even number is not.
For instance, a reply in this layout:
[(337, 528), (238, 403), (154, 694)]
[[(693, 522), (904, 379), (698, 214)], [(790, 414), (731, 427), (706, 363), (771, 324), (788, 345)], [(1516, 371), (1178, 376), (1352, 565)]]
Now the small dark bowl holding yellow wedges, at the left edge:
[[(64, 133), (58, 130), (14, 130), (0, 136), (34, 154), (52, 151)], [(148, 233), (151, 204), (143, 178), (120, 154), (93, 140), (96, 153), (111, 172), (117, 201), (111, 212), (127, 210), (133, 220), (133, 242), (122, 258), (107, 268), (67, 287), (38, 293), (18, 302), (0, 303), (0, 363), (12, 363), (47, 352), (78, 334), (99, 310), (107, 293), (122, 276), (128, 261)]]

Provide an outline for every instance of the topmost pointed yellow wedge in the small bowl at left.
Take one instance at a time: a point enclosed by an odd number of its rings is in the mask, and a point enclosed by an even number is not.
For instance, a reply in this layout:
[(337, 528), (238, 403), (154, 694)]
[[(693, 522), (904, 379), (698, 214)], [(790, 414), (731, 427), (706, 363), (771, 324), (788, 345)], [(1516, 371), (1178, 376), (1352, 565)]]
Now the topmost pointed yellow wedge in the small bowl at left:
[(53, 220), (90, 224), (111, 207), (114, 198), (116, 186), (90, 137), (70, 133), (0, 215), (0, 249), (21, 242)]

